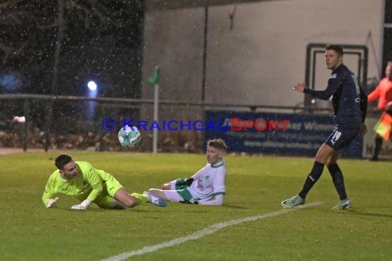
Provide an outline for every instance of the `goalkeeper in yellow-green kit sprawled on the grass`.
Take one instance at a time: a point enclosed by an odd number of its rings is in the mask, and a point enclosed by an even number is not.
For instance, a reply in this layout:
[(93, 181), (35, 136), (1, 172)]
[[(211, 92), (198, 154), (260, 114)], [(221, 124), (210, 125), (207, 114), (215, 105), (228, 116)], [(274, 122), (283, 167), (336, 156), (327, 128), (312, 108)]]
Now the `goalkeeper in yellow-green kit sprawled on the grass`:
[(129, 194), (115, 177), (94, 168), (89, 162), (74, 161), (63, 154), (56, 157), (54, 165), (58, 170), (50, 175), (42, 196), (47, 208), (57, 207), (60, 194), (74, 196), (80, 201), (72, 209), (87, 209), (91, 203), (103, 209), (126, 209), (145, 202), (159, 207), (167, 205), (162, 198), (149, 192)]

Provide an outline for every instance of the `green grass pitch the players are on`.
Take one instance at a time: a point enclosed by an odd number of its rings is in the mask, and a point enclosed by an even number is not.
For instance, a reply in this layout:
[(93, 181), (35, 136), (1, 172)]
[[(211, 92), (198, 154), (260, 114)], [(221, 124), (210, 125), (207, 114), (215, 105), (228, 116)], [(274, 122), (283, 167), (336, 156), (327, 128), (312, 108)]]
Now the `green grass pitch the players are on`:
[[(225, 221), (274, 213), (301, 190), (313, 159), (227, 156), (224, 206), (168, 203), (127, 210), (45, 209), (43, 188), (59, 152), (0, 156), (0, 260), (102, 260), (183, 238)], [(189, 177), (204, 155), (72, 152), (113, 174), (129, 192), (159, 188)], [(279, 216), (230, 225), (213, 234), (132, 256), (128, 260), (392, 260), (392, 163), (342, 159), (350, 212), (338, 202), (331, 177), (323, 176), (305, 207)]]

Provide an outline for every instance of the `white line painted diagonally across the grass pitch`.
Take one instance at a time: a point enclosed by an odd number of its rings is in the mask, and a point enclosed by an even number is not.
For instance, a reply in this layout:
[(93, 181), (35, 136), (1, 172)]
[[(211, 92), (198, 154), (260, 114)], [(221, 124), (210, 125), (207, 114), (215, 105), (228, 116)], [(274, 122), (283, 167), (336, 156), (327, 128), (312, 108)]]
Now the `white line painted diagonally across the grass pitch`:
[(144, 253), (151, 253), (151, 252), (157, 251), (159, 249), (163, 249), (165, 247), (173, 247), (175, 245), (179, 245), (179, 244), (182, 244), (184, 242), (188, 242), (189, 240), (196, 240), (196, 239), (202, 238), (204, 236), (207, 236), (209, 234), (213, 234), (216, 231), (218, 231), (219, 229), (223, 229), (225, 227), (230, 227), (232, 225), (238, 225), (238, 224), (241, 224), (241, 223), (244, 223), (244, 222), (248, 222), (248, 221), (254, 221), (254, 220), (259, 220), (259, 219), (264, 219), (264, 218), (272, 218), (274, 216), (287, 214), (289, 212), (296, 211), (296, 210), (301, 209), (301, 208), (312, 207), (312, 206), (320, 205), (320, 204), (322, 204), (322, 203), (321, 202), (314, 202), (314, 203), (301, 205), (301, 206), (298, 206), (298, 207), (295, 207), (295, 208), (292, 208), (292, 209), (281, 209), (281, 210), (276, 211), (276, 212), (271, 212), (271, 213), (266, 213), (266, 214), (259, 214), (257, 216), (248, 216), (246, 218), (239, 218), (239, 219), (235, 219), (235, 220), (229, 220), (229, 221), (225, 221), (225, 222), (221, 222), (221, 223), (216, 223), (214, 225), (210, 225), (210, 227), (206, 227), (205, 229), (197, 231), (197, 232), (195, 232), (193, 234), (190, 234), (188, 236), (183, 236), (182, 238), (175, 238), (173, 240), (162, 242), (162, 243), (157, 244), (157, 245), (153, 245), (153, 246), (149, 246), (149, 247), (143, 247), (142, 249), (138, 249), (138, 250), (134, 250), (134, 251), (130, 251), (130, 252), (120, 253), (120, 254), (118, 254), (116, 256), (111, 256), (111, 257), (103, 259), (101, 261), (126, 260), (127, 258), (131, 258), (132, 256), (139, 256), (139, 255), (142, 255)]

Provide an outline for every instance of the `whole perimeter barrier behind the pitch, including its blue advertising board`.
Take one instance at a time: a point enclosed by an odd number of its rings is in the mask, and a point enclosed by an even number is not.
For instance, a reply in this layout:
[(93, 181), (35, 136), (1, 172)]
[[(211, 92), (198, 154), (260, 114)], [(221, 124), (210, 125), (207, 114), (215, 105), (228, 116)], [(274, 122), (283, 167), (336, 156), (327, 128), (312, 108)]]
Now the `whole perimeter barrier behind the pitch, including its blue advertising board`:
[[(0, 147), (152, 150), (153, 100), (34, 94), (1, 94), (0, 100)], [(220, 137), (230, 152), (314, 156), (331, 133), (331, 113), (316, 107), (160, 100), (154, 128), (159, 152), (204, 152), (208, 139)], [(25, 122), (12, 121), (14, 116)], [(120, 146), (123, 123), (144, 126), (140, 146)], [(363, 150), (358, 137), (343, 156), (362, 157)]]

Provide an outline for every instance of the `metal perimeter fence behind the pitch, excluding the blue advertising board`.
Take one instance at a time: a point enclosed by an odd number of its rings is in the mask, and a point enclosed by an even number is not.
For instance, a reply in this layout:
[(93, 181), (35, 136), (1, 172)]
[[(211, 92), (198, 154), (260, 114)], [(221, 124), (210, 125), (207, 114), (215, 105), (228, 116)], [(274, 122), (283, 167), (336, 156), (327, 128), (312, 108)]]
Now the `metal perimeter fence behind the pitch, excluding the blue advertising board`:
[[(329, 109), (315, 106), (250, 106), (246, 104), (206, 104), (160, 100), (159, 124), (174, 121), (204, 120), (205, 111), (252, 111), (274, 113), (330, 114)], [(25, 117), (25, 122), (15, 120)], [(113, 130), (104, 128), (105, 119), (117, 124)], [(32, 94), (0, 95), (0, 148), (42, 148), (152, 151), (151, 125), (142, 129), (142, 142), (135, 148), (123, 148), (118, 142), (118, 130), (131, 119), (152, 122), (153, 100), (124, 98), (87, 98)], [(163, 124), (164, 125), (164, 124)], [(162, 125), (160, 125), (162, 126)], [(178, 129), (160, 129), (157, 137), (158, 152), (203, 152), (204, 132)]]

